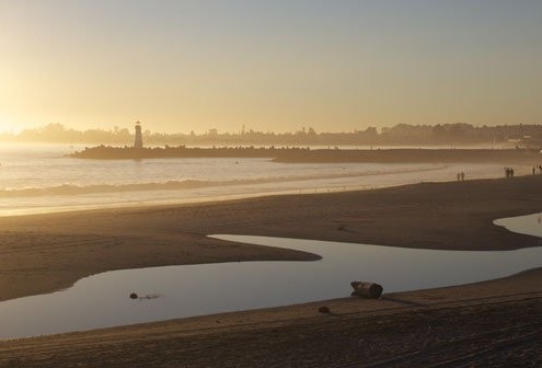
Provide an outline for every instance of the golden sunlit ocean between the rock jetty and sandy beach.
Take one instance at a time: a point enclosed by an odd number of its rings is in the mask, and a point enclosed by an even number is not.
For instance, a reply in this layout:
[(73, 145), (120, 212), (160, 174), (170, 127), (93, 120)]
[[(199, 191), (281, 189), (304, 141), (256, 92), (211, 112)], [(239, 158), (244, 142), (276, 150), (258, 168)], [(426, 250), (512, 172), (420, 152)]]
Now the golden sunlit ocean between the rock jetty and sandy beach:
[[(268, 159), (69, 158), (68, 145), (0, 146), (0, 216), (211, 202), (500, 177), (500, 164), (277, 163)], [(527, 174), (531, 168), (515, 168)]]

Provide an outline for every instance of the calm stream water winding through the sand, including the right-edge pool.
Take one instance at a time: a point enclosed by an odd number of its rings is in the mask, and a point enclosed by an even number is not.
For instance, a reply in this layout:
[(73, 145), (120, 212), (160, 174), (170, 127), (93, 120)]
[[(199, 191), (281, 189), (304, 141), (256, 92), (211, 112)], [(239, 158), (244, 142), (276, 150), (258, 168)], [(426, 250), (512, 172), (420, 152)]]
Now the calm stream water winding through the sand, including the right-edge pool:
[[(540, 215), (497, 225), (542, 238)], [(263, 237), (220, 235), (316, 253), (315, 262), (242, 262), (103, 273), (66, 291), (0, 303), (0, 337), (50, 334), (348, 296), (351, 280), (384, 292), (466, 284), (542, 264), (542, 248), (507, 252), (428, 251)], [(131, 300), (159, 294), (150, 300)]]

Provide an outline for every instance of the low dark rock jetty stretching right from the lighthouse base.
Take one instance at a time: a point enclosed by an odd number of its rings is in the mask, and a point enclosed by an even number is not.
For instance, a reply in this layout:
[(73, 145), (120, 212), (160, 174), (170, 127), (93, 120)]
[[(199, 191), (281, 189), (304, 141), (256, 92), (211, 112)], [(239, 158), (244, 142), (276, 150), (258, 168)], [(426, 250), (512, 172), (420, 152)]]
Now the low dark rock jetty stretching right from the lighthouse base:
[(310, 149), (310, 148), (258, 148), (214, 147), (188, 148), (185, 146), (164, 148), (134, 148), (96, 146), (70, 154), (71, 158), (90, 160), (142, 160), (161, 158), (264, 158), (277, 162), (498, 162), (539, 165), (540, 150), (533, 149)]

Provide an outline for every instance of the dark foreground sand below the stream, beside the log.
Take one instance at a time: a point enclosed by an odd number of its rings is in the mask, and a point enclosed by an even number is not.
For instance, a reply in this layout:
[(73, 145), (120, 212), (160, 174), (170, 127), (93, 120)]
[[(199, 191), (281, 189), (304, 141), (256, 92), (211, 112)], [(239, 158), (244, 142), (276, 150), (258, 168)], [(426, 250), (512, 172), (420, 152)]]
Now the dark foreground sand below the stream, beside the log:
[[(0, 367), (542, 363), (542, 268), (500, 279), (0, 341)], [(330, 313), (319, 312), (327, 307)]]

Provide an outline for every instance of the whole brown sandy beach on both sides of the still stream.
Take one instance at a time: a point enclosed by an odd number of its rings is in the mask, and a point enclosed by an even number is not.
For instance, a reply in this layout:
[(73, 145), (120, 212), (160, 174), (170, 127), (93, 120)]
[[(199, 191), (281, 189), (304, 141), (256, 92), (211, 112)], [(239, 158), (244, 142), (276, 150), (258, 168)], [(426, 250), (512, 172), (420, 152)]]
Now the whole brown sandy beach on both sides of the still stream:
[[(207, 234), (511, 250), (493, 225), (542, 211), (542, 175), (0, 219), (0, 300), (112, 269), (318, 255)], [(378, 281), (378, 280), (374, 280)], [(0, 343), (2, 367), (540, 366), (542, 273)], [(318, 312), (327, 306), (332, 313)]]

